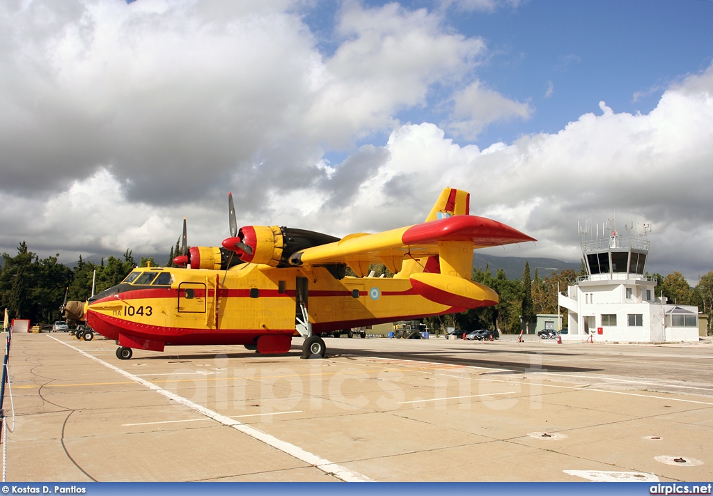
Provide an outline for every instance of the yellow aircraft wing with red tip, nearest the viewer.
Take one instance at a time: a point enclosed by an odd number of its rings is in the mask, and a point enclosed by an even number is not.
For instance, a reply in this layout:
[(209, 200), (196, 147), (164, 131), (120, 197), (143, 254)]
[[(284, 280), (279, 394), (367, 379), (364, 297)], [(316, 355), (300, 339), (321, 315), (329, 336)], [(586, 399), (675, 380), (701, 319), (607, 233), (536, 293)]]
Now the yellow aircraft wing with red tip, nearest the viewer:
[(350, 234), (334, 243), (300, 250), (289, 258), (289, 263), (346, 263), (357, 275), (365, 275), (369, 264), (384, 263), (397, 272), (403, 260), (438, 255), (439, 244), (450, 241), (472, 242), (473, 248), (485, 248), (535, 239), (498, 221), (461, 215), (382, 233)]

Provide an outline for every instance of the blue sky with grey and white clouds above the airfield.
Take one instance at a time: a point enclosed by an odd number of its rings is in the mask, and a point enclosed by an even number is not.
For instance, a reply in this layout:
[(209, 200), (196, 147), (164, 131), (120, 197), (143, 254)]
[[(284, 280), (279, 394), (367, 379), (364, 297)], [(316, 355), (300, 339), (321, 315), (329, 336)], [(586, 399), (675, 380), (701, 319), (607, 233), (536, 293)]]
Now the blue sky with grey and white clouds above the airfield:
[[(0, 250), (165, 258), (239, 225), (420, 222), (444, 186), (580, 260), (713, 270), (713, 1), (6, 0)], [(595, 229), (595, 228), (593, 228)]]

